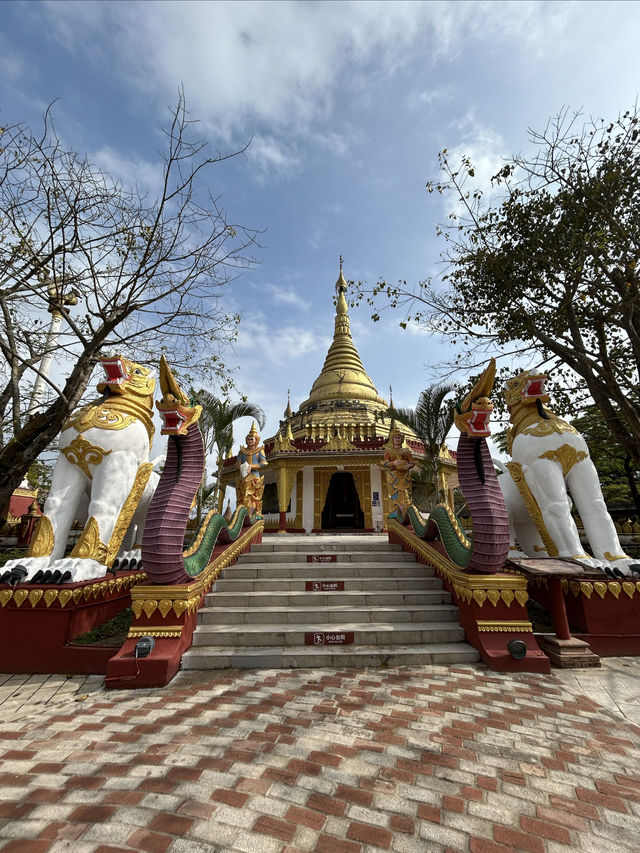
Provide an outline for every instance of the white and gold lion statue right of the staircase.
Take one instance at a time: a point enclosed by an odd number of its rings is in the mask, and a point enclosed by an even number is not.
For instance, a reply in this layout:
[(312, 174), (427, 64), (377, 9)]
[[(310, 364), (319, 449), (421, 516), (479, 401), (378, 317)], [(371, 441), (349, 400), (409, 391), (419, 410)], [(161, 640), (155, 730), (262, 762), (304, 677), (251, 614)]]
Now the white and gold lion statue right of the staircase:
[[(512, 461), (507, 471), (498, 463), (504, 471), (498, 482), (509, 510), (510, 556), (569, 557), (608, 574), (630, 575), (631, 567), (640, 570), (640, 563), (622, 550), (586, 441), (545, 405), (546, 379), (527, 371), (508, 380), (505, 388)], [(580, 543), (571, 499), (592, 555)]]

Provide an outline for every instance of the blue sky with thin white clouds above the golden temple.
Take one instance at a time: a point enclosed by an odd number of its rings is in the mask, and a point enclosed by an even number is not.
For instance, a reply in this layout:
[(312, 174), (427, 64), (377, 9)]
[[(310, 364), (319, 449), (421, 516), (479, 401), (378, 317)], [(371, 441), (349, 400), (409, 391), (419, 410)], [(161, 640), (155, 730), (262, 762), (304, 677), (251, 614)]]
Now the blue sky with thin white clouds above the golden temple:
[[(4, 2), (0, 121), (37, 126), (59, 99), (65, 141), (151, 190), (180, 85), (214, 147), (252, 140), (213, 189), (264, 229), (225, 307), (243, 315), (227, 361), (271, 435), (322, 367), (339, 255), (370, 284), (437, 276), (438, 151), (486, 180), (564, 106), (615, 117), (638, 94), (639, 32), (632, 2)], [(351, 318), (378, 390), (413, 406), (444, 344), (399, 315)]]

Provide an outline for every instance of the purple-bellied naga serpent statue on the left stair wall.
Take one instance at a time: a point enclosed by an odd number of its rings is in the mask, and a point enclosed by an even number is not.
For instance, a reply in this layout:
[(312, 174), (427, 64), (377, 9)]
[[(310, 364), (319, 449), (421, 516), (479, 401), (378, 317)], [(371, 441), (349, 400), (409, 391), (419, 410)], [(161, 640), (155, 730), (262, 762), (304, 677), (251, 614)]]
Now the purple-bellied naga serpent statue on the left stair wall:
[(198, 420), (202, 407), (193, 405), (176, 382), (166, 359), (160, 361), (162, 399), (156, 403), (162, 435), (169, 436), (167, 461), (149, 506), (142, 539), (142, 562), (150, 583), (189, 583), (210, 562), (217, 543), (234, 541), (250, 523), (244, 507), (229, 523), (210, 512), (194, 544), (183, 552), (184, 534), (205, 465)]

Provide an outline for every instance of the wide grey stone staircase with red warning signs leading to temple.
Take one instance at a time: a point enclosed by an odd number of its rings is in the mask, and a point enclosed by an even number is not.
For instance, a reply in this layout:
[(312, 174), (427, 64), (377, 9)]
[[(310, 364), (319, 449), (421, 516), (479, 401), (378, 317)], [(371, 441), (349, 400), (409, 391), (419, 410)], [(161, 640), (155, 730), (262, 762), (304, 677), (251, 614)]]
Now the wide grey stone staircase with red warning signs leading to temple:
[(386, 536), (269, 536), (226, 569), (183, 669), (468, 663), (458, 610), (433, 569)]

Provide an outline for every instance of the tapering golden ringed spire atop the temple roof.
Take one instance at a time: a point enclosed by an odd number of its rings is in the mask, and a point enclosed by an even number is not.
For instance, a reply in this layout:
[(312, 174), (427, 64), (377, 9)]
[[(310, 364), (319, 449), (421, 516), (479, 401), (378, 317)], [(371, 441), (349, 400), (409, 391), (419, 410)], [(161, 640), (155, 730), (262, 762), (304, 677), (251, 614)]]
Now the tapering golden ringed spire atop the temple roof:
[(309, 398), (302, 403), (300, 409), (309, 403), (324, 400), (357, 400), (386, 408), (387, 404), (378, 396), (378, 391), (367, 376), (358, 350), (351, 339), (346, 290), (347, 282), (342, 272), (342, 256), (340, 256), (340, 275), (336, 282), (338, 299), (333, 342), (329, 347), (322, 372), (313, 383)]

